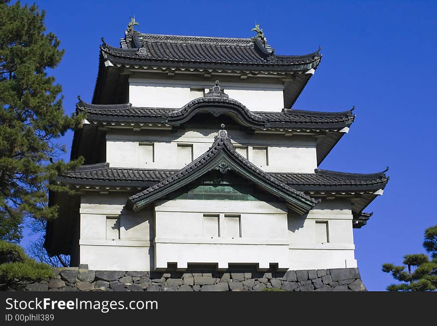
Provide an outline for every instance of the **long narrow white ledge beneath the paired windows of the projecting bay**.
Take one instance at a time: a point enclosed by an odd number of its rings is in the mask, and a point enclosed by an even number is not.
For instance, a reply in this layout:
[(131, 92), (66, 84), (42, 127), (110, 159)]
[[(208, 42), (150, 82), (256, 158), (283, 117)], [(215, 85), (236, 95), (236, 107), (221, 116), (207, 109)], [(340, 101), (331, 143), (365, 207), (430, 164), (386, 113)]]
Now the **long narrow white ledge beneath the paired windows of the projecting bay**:
[(245, 238), (163, 238), (157, 237), (153, 243), (180, 243), (180, 244), (216, 244), (216, 245), (272, 245), (272, 246), (288, 246), (288, 239), (245, 239)]

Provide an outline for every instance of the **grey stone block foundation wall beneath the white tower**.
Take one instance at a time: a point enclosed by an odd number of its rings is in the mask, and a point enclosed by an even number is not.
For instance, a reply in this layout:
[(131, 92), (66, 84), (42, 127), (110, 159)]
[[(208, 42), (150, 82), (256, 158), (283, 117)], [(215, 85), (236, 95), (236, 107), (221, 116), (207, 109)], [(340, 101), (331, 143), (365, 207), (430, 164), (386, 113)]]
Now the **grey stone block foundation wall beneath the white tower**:
[(358, 268), (287, 272), (138, 272), (56, 268), (25, 291), (365, 291)]

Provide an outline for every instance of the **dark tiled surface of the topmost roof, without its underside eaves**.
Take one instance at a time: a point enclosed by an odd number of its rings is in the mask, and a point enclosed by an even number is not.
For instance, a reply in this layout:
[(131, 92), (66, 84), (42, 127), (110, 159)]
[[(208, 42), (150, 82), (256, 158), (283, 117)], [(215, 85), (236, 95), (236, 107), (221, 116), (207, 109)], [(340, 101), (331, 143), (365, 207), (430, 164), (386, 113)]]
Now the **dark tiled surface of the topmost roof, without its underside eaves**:
[(266, 67), (272, 70), (307, 70), (320, 62), (319, 51), (303, 56), (276, 55), (256, 38), (219, 38), (179, 35), (126, 34), (121, 48), (104, 43), (104, 55), (123, 62), (191, 64), (195, 66)]

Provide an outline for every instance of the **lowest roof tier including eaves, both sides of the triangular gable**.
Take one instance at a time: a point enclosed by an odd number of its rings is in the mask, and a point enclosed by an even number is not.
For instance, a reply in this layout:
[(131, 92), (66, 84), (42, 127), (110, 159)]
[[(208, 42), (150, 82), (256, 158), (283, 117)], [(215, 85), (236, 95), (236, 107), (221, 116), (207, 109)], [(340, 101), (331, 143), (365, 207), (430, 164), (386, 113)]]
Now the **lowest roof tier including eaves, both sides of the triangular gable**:
[[(111, 167), (109, 163), (89, 164), (66, 172), (59, 181), (72, 187), (88, 190), (145, 190), (176, 174), (179, 170)], [(371, 216), (363, 213), (368, 204), (387, 185), (389, 177), (384, 170), (361, 174), (315, 169), (314, 173), (280, 173), (266, 175), (311, 197), (354, 196), (352, 207), (354, 228), (361, 228)], [(365, 217), (365, 219), (364, 219)]]

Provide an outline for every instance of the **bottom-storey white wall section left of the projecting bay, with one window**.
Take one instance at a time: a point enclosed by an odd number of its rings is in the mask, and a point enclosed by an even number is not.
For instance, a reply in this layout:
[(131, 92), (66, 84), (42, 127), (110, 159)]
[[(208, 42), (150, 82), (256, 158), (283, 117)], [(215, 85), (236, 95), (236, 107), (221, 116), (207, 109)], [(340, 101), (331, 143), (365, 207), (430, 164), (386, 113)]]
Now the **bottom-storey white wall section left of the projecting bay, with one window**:
[[(80, 203), (80, 263), (90, 269), (153, 268), (153, 218), (150, 210), (125, 208), (128, 194), (85, 194)], [(106, 217), (120, 218), (120, 239), (106, 239)]]

